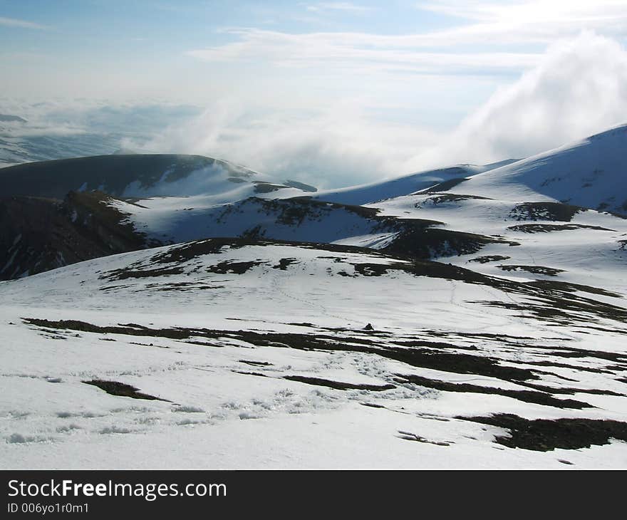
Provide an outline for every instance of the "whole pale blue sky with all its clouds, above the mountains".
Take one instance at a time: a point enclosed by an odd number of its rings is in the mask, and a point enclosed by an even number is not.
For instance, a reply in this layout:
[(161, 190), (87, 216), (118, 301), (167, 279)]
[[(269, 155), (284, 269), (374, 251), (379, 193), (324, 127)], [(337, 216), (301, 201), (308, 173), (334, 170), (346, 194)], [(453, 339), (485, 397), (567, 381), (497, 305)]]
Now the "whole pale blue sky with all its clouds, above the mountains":
[(192, 105), (153, 149), (372, 180), (627, 120), (626, 36), (625, 0), (0, 0), (0, 111)]

